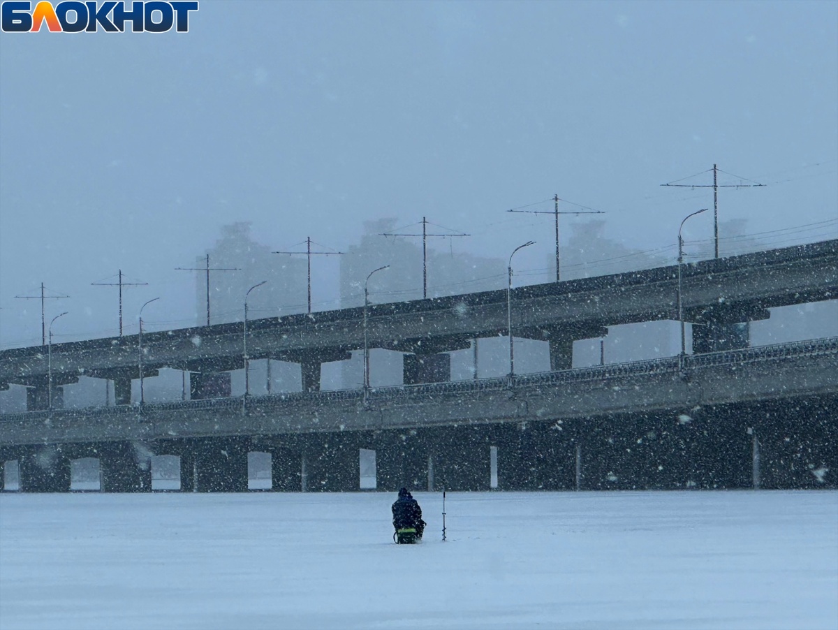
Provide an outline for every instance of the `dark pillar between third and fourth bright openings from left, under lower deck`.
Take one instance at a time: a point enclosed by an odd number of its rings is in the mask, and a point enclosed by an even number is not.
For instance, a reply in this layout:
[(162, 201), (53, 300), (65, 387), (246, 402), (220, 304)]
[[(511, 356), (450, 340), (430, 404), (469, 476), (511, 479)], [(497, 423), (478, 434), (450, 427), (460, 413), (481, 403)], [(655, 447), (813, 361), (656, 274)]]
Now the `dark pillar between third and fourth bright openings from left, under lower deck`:
[[(198, 492), (247, 492), (247, 452), (246, 443), (234, 437), (196, 443)], [(183, 483), (184, 457), (181, 456), (181, 489)]]

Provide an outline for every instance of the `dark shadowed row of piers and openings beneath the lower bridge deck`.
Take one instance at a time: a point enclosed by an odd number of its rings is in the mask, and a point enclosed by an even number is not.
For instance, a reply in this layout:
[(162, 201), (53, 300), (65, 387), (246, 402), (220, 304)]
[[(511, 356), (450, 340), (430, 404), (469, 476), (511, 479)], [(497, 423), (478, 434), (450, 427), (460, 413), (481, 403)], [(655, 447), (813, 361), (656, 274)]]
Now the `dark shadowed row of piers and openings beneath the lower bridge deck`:
[(0, 447), (6, 491), (838, 488), (838, 395), (412, 429)]

